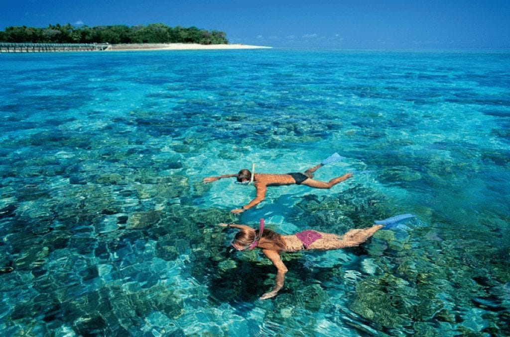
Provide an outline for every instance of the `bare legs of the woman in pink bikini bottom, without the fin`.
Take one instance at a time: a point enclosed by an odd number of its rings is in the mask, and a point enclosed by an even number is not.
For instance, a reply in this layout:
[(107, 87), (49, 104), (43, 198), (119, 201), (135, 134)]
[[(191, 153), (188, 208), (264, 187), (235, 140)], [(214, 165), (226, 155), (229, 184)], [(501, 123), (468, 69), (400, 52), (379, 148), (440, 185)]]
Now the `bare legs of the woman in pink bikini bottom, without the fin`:
[(331, 250), (356, 247), (366, 242), (372, 235), (374, 235), (375, 232), (380, 230), (382, 227), (383, 226), (380, 224), (375, 224), (374, 226), (366, 229), (352, 229), (342, 236), (319, 232), (322, 238), (309, 245), (308, 249)]

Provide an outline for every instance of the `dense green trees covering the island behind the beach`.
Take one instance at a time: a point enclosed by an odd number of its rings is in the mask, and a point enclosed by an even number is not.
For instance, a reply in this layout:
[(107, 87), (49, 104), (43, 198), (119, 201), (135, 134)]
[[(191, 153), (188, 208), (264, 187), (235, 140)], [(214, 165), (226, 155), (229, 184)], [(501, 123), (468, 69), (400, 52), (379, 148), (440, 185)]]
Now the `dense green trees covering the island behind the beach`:
[(48, 25), (46, 28), (11, 26), (0, 31), (3, 42), (33, 43), (200, 43), (226, 44), (224, 32), (197, 27), (169, 27), (163, 23), (148, 25), (81, 26)]

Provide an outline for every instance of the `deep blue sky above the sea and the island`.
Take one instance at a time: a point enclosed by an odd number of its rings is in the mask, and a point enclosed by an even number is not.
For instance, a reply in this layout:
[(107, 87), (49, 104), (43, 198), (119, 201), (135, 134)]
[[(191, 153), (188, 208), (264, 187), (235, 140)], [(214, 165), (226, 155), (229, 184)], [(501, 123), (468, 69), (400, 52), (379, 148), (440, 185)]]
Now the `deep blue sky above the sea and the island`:
[(509, 48), (510, 0), (0, 0), (0, 29), (49, 23), (196, 26), (275, 47)]

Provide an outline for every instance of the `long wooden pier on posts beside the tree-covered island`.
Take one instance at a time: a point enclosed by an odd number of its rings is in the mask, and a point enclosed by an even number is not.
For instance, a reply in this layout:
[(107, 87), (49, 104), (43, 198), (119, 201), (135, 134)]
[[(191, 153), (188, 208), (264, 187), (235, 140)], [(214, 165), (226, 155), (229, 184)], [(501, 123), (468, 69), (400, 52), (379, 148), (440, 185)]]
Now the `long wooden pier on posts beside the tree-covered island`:
[(109, 44), (97, 43), (11, 43), (0, 42), (0, 52), (100, 51)]

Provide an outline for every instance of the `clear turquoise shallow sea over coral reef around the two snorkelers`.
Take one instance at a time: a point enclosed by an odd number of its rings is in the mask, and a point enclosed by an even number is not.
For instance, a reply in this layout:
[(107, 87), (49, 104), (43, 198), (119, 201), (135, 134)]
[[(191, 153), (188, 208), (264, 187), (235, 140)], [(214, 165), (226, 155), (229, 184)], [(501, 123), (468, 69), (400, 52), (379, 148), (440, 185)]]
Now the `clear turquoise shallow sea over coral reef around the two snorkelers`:
[[(510, 57), (293, 50), (3, 54), (0, 329), (16, 335), (508, 335)], [(215, 224), (417, 219), (274, 268)]]

